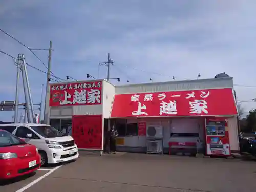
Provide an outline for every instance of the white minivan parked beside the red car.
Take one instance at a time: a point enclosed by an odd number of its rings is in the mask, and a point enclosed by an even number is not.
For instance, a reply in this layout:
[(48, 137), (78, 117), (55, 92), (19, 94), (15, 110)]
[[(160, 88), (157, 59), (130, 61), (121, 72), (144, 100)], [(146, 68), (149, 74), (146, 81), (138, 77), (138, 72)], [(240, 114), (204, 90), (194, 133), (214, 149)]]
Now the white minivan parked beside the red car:
[(41, 165), (75, 160), (79, 157), (77, 145), (71, 136), (46, 124), (12, 123), (0, 124), (26, 143), (35, 145), (41, 155)]

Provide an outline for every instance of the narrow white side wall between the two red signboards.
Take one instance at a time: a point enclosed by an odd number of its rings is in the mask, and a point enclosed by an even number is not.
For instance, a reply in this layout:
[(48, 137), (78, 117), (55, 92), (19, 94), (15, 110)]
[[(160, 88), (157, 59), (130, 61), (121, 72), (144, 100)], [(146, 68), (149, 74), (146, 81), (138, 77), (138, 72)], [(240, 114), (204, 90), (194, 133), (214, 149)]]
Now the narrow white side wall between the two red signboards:
[(110, 118), (112, 102), (115, 95), (115, 86), (108, 81), (103, 81), (103, 118)]

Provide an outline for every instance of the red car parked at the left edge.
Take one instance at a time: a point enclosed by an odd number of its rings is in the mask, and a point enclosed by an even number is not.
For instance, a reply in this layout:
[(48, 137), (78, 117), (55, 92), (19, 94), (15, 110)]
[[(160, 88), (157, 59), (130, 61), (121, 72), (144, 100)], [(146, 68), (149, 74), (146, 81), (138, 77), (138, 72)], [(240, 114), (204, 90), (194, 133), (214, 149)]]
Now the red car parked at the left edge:
[(41, 166), (41, 157), (34, 145), (0, 130), (0, 179), (10, 179), (34, 172)]

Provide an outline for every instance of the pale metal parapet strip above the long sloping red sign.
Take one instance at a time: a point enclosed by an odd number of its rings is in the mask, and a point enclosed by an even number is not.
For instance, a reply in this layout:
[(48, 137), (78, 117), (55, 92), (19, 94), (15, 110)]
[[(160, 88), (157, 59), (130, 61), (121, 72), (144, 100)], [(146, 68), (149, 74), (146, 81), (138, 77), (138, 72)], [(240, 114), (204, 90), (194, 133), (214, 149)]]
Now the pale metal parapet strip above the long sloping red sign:
[(232, 88), (233, 78), (198, 79), (116, 86), (116, 94)]

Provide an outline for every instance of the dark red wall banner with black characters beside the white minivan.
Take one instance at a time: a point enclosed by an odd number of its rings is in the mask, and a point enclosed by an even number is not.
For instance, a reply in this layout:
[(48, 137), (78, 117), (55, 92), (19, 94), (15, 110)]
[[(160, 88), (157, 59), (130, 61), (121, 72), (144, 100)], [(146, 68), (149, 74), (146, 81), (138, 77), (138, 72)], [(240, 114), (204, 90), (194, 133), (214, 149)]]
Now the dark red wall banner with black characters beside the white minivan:
[(102, 115), (72, 116), (72, 137), (78, 148), (102, 150)]

